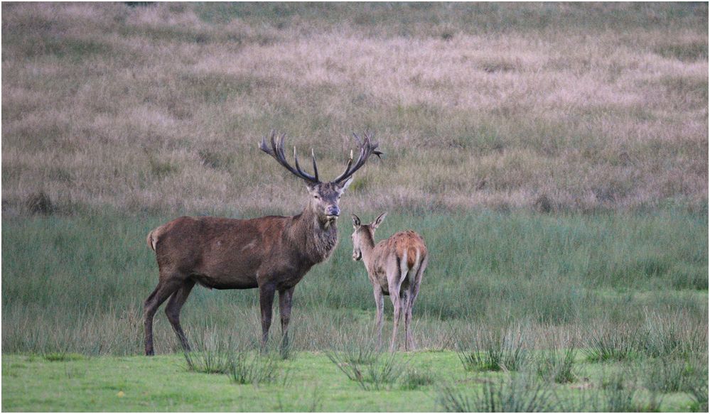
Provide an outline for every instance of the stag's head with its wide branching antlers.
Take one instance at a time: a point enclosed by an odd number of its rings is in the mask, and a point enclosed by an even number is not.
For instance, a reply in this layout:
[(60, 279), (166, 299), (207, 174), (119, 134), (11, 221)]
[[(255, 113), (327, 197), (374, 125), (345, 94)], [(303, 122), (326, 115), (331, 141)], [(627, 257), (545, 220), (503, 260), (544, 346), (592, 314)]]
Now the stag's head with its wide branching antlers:
[[(345, 171), (338, 175), (335, 180), (330, 182), (322, 182), (318, 179), (318, 165), (316, 164), (316, 154), (311, 149), (311, 158), (313, 159), (313, 175), (306, 173), (301, 169), (301, 165), (298, 165), (298, 155), (296, 154), (296, 147), (294, 146), (294, 165), (292, 167), (288, 161), (286, 161), (286, 156), (284, 154), (284, 139), (286, 134), (281, 135), (280, 138), (276, 138), (276, 134), (272, 131), (271, 138), (267, 143), (267, 138), (262, 139), (262, 143), (259, 144), (259, 149), (274, 157), (276, 161), (279, 162), (286, 170), (296, 175), (296, 177), (301, 178), (306, 181), (306, 190), (308, 190), (309, 202), (308, 209), (313, 212), (313, 214), (318, 218), (321, 224), (328, 226), (335, 222), (335, 220), (340, 217), (340, 207), (338, 202), (340, 202), (340, 196), (343, 195), (345, 189), (353, 181), (353, 174), (355, 171), (359, 170), (362, 165), (365, 165), (367, 158), (370, 155), (375, 154), (376, 156), (381, 156), (382, 152), (377, 150), (377, 143), (372, 142), (372, 136), (365, 134), (365, 138), (360, 140), (360, 137), (353, 134), (357, 143), (359, 144), (359, 155), (357, 160), (353, 160), (353, 151), (350, 151), (350, 159), (348, 159), (348, 165), (345, 166)], [(354, 162), (353, 162), (354, 161)]]

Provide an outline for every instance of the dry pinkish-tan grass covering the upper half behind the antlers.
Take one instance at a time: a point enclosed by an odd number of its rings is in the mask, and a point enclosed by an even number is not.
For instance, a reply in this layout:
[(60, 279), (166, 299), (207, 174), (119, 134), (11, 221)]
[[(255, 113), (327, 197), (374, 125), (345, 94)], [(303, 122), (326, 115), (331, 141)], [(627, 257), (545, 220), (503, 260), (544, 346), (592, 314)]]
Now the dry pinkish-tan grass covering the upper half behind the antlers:
[(295, 212), (271, 128), (377, 133), (353, 211), (706, 206), (706, 5), (494, 6), (4, 4), (4, 211)]

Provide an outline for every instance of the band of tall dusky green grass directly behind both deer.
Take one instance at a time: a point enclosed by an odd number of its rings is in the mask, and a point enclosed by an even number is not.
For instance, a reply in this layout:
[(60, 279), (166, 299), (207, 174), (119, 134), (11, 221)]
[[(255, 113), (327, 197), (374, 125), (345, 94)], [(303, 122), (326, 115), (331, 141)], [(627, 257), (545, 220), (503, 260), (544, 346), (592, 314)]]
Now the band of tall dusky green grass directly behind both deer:
[[(347, 201), (343, 205), (347, 212)], [(145, 235), (167, 219), (109, 212), (4, 220), (4, 351), (139, 353), (142, 302), (157, 280)], [(390, 212), (377, 236), (416, 229), (431, 251), (414, 307), (421, 347), (453, 349), (476, 337), (475, 329), (489, 334), (514, 323), (532, 331), (580, 329), (588, 341), (583, 345), (596, 342), (613, 351), (609, 342), (618, 334), (605, 335), (642, 326), (628, 347), (657, 356), (706, 345), (706, 220), (677, 211), (556, 217)], [(350, 258), (350, 229), (341, 224), (339, 231), (333, 257), (296, 288), (296, 350), (323, 349), (332, 338), (354, 332), (372, 337), (372, 288), (362, 264)], [(702, 282), (679, 286), (677, 278), (687, 273)], [(231, 327), (239, 341), (256, 341), (257, 307), (256, 290), (196, 288), (184, 307), (183, 326), (195, 338)], [(386, 301), (384, 337), (391, 309)], [(162, 312), (156, 329), (158, 352), (178, 351)], [(528, 339), (536, 344), (539, 334)]]

